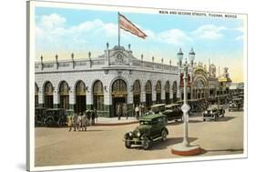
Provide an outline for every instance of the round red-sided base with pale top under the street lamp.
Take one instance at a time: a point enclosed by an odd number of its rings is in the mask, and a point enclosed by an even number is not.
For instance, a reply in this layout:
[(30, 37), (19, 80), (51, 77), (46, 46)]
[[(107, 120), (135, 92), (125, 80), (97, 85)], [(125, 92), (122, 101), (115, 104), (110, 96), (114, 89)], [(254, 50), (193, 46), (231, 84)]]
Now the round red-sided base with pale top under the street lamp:
[(189, 145), (185, 147), (183, 144), (177, 144), (171, 147), (171, 153), (178, 156), (195, 156), (201, 152), (199, 145)]

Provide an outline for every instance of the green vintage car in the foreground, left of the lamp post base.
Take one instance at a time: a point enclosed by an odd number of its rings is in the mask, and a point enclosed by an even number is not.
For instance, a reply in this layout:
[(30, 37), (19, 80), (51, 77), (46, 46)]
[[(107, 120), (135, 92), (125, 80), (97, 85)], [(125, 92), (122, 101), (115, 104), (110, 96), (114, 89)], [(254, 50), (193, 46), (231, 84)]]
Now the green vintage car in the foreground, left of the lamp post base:
[(130, 148), (132, 145), (138, 145), (146, 150), (155, 140), (165, 141), (169, 135), (167, 124), (168, 120), (165, 115), (154, 114), (142, 117), (139, 120), (139, 126), (125, 134), (125, 146)]

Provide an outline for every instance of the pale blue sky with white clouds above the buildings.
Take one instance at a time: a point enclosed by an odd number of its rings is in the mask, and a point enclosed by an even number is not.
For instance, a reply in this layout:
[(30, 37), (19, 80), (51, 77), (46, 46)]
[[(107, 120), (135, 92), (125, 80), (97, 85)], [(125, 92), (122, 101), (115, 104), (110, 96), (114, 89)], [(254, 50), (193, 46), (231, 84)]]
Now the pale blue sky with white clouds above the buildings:
[[(206, 63), (210, 58), (220, 67), (242, 62), (241, 19), (120, 13), (148, 35), (144, 40), (121, 30), (121, 46), (131, 44), (134, 56), (176, 63), (179, 47), (185, 57), (193, 47), (197, 61)], [(110, 47), (118, 44), (118, 12), (36, 7), (36, 59), (43, 55), (51, 60), (56, 53), (70, 58), (72, 52), (85, 58), (88, 51), (99, 56), (107, 42)]]

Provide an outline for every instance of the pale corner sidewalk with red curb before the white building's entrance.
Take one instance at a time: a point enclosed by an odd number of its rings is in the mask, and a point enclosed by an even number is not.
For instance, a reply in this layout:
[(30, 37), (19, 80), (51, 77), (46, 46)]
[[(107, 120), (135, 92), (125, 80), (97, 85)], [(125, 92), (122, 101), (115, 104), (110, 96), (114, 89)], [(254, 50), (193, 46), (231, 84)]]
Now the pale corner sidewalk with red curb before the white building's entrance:
[(135, 117), (128, 117), (128, 119), (124, 116), (118, 120), (118, 117), (97, 117), (95, 119), (95, 126), (121, 126), (121, 125), (129, 125), (138, 123), (138, 119)]

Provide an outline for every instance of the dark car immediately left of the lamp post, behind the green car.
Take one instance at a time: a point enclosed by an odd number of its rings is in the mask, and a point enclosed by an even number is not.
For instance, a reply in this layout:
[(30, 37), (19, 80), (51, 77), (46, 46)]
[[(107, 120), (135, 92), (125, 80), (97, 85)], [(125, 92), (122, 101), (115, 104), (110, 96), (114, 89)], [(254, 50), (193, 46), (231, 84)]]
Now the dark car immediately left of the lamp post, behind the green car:
[(179, 104), (169, 104), (165, 106), (165, 111), (161, 114), (167, 116), (168, 120), (178, 120), (183, 121), (183, 112), (181, 111), (181, 106)]

